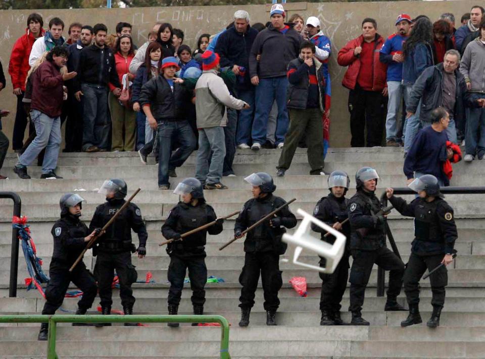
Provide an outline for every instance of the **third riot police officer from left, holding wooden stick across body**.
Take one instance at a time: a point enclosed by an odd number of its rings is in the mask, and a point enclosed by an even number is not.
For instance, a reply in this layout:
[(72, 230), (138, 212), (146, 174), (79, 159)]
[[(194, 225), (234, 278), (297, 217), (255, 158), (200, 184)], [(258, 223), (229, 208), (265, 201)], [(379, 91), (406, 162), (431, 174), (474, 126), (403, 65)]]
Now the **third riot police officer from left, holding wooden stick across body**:
[[(206, 252), (207, 232), (212, 235), (222, 232), (223, 219), (197, 233), (187, 235), (181, 240), (181, 234), (196, 229), (204, 224), (217, 219), (214, 209), (206, 203), (201, 182), (197, 178), (185, 178), (173, 191), (180, 195), (179, 202), (170, 212), (167, 220), (162, 226), (162, 234), (165, 238), (173, 238), (176, 241), (168, 244), (167, 253), (170, 256), (168, 267), (168, 280), (170, 289), (168, 291), (168, 314), (178, 313), (178, 305), (183, 289), (185, 271), (188, 268), (188, 278), (192, 289), (193, 314), (204, 314), (204, 303), (206, 302), (206, 291), (204, 287), (207, 282), (207, 267), (204, 258)], [(179, 323), (168, 323), (170, 327), (178, 327)], [(192, 323), (197, 325), (197, 323)]]

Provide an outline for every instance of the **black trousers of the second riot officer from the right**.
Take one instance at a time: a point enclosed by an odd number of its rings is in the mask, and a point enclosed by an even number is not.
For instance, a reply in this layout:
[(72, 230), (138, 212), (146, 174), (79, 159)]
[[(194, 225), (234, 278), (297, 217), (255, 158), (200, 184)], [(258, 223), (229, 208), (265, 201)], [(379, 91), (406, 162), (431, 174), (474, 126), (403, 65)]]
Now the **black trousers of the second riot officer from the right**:
[(358, 312), (364, 304), (365, 288), (369, 282), (372, 267), (377, 264), (389, 272), (387, 298), (395, 299), (403, 285), (404, 263), (389, 248), (382, 247), (375, 251), (353, 250), (352, 269), (350, 270), (350, 307), (349, 311)]

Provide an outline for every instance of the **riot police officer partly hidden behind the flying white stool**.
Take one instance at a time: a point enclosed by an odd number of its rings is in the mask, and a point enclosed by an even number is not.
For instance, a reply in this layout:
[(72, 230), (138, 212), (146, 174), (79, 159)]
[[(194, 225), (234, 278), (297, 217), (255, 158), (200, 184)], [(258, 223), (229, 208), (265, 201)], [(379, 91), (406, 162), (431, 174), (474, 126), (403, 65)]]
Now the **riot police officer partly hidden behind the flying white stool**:
[[(313, 215), (329, 226), (340, 230), (347, 237), (346, 248), (342, 259), (338, 263), (332, 274), (320, 273), (322, 279), (322, 293), (320, 296), (320, 311), (322, 318), (320, 325), (342, 325), (340, 315), (342, 297), (347, 287), (349, 276), (349, 257), (350, 257), (350, 223), (344, 223), (348, 218), (347, 204), (349, 200), (345, 198), (350, 186), (350, 178), (344, 171), (333, 171), (327, 179), (330, 193), (327, 197), (322, 197), (315, 206)], [(334, 236), (324, 237), (326, 230), (312, 223), (312, 229), (321, 233), (322, 241), (331, 245), (335, 242)], [(325, 258), (320, 258), (320, 266), (325, 267)]]

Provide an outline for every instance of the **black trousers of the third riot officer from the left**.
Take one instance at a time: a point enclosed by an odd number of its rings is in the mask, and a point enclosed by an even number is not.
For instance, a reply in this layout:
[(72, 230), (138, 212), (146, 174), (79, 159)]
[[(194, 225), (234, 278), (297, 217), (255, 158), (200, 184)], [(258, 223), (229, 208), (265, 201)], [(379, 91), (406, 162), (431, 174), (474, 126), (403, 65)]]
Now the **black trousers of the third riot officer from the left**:
[(178, 306), (180, 296), (182, 295), (183, 281), (185, 272), (188, 269), (188, 279), (190, 280), (190, 289), (192, 289), (193, 307), (203, 307), (206, 302), (206, 291), (204, 287), (207, 283), (207, 267), (204, 260), (205, 256), (186, 257), (172, 254), (170, 256), (170, 265), (168, 266), (167, 277), (170, 282), (168, 290), (168, 305)]

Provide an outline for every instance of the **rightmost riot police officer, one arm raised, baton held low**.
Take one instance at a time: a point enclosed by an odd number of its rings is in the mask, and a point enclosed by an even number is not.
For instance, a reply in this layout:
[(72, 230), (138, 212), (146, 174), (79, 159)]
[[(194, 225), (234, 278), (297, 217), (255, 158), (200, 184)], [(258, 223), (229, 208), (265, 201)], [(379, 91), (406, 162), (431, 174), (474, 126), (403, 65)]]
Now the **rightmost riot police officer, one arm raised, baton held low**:
[(414, 241), (411, 244), (406, 271), (404, 291), (409, 304), (409, 316), (401, 322), (402, 327), (422, 322), (419, 314), (419, 279), (428, 271), (441, 266), (429, 276), (433, 313), (426, 323), (430, 328), (440, 325), (440, 315), (445, 304), (445, 286), (448, 284), (446, 266), (453, 262), (454, 245), (458, 236), (453, 208), (442, 198), (438, 179), (432, 174), (416, 178), (408, 186), (417, 192), (410, 204), (394, 196), (392, 188), (386, 189), (387, 198), (404, 216), (414, 217)]

